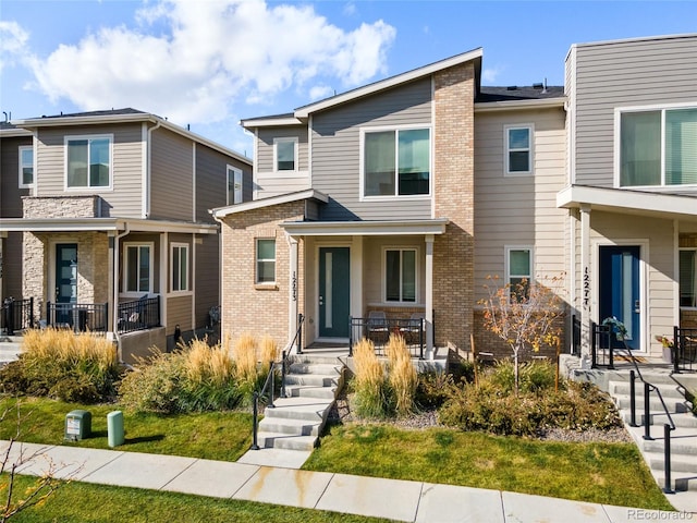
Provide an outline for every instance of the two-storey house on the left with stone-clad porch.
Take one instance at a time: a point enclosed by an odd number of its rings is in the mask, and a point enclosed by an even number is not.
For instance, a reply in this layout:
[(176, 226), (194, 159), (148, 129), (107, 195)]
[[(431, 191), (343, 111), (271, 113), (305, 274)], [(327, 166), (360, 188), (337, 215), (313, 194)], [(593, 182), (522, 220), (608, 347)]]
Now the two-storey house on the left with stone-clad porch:
[(0, 297), (33, 299), (37, 325), (115, 333), (125, 352), (209, 324), (208, 209), (250, 199), (249, 159), (134, 109), (8, 122), (0, 146)]

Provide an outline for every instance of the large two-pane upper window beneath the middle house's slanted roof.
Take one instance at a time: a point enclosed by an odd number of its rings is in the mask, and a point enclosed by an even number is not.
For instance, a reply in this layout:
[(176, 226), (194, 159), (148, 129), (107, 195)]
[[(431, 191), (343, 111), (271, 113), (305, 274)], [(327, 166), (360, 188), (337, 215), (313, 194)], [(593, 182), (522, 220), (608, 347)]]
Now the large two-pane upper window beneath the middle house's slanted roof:
[(430, 151), (429, 129), (366, 131), (364, 196), (429, 194)]

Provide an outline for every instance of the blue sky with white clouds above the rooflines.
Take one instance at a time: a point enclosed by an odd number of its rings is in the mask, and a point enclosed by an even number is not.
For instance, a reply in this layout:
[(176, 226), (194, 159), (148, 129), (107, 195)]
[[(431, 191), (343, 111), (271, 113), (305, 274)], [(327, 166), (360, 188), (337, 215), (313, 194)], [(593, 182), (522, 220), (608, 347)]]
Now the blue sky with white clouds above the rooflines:
[(695, 32), (694, 0), (1, 0), (0, 107), (134, 107), (250, 156), (240, 119), (474, 48), (485, 85), (562, 85), (574, 42)]

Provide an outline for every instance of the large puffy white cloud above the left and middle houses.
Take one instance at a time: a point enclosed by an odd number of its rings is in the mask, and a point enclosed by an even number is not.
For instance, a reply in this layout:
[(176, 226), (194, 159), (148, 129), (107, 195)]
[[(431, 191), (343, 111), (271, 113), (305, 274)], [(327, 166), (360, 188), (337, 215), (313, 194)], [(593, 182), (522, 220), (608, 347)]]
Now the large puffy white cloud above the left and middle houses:
[(342, 29), (309, 5), (262, 0), (146, 5), (136, 13), (137, 29), (106, 27), (37, 59), (33, 69), (40, 89), (84, 110), (135, 107), (182, 124), (218, 121), (229, 117), (234, 101), (268, 102), (291, 86), (306, 89), (310, 81), (363, 83), (384, 72), (395, 37), (382, 21)]

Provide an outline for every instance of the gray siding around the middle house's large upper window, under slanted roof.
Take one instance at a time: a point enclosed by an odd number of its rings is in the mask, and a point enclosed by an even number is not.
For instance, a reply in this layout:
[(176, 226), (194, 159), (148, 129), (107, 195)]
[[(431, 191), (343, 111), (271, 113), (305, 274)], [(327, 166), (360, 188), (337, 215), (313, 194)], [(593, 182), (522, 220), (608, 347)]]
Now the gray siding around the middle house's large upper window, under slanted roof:
[(323, 220), (431, 218), (429, 197), (359, 200), (360, 127), (412, 124), (431, 124), (430, 78), (313, 115), (313, 187), (331, 197)]

